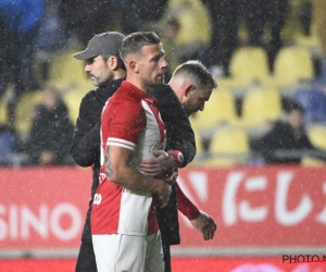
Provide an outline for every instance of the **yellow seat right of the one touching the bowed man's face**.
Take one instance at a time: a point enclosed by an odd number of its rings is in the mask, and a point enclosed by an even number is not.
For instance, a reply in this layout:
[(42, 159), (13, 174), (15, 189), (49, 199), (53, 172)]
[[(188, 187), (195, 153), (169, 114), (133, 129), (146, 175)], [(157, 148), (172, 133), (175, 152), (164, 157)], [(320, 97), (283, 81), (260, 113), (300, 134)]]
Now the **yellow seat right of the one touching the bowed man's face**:
[(256, 87), (243, 97), (242, 116), (238, 125), (254, 128), (277, 120), (281, 114), (281, 98), (276, 89)]

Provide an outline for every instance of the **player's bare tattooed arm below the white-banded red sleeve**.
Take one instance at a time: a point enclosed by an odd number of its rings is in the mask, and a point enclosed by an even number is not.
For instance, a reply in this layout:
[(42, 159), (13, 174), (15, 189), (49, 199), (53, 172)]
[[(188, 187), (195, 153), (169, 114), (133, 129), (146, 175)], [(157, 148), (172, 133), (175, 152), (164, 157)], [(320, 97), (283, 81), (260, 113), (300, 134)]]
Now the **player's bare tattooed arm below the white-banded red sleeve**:
[(131, 190), (147, 190), (159, 197), (162, 206), (166, 206), (171, 185), (162, 180), (146, 176), (129, 165), (133, 150), (120, 146), (106, 145), (104, 168), (110, 182)]

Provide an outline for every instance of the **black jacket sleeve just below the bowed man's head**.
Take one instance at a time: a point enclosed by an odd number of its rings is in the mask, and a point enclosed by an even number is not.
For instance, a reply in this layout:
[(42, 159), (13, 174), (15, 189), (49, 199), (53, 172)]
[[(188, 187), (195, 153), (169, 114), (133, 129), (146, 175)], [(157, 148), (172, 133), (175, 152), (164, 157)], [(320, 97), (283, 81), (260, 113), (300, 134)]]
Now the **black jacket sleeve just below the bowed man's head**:
[(196, 156), (195, 134), (188, 115), (174, 90), (168, 85), (154, 89), (153, 97), (159, 100), (158, 109), (167, 133), (167, 150), (180, 150), (184, 154), (183, 168)]

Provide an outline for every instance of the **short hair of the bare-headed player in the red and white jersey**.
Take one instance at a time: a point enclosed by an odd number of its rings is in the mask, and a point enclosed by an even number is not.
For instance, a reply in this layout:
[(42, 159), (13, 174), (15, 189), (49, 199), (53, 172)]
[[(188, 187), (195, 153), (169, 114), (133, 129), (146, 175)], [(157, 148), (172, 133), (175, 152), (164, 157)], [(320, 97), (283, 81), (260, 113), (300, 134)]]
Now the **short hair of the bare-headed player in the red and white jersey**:
[(160, 38), (154, 32), (138, 32), (124, 38), (120, 49), (120, 57), (124, 61), (127, 54), (140, 52), (143, 46), (159, 45)]

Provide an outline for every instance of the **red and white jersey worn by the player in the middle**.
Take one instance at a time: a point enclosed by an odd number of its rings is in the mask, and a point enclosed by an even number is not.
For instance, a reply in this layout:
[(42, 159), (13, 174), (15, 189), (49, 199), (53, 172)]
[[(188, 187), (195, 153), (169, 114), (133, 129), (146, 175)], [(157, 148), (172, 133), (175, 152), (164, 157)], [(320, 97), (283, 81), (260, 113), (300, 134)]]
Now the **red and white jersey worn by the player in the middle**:
[(108, 145), (133, 150), (129, 162), (139, 172), (141, 160), (154, 158), (151, 150), (165, 148), (166, 132), (156, 102), (130, 83), (123, 82), (103, 108), (100, 185), (91, 211), (91, 233), (95, 235), (145, 236), (159, 230), (152, 194), (136, 193), (111, 183), (103, 165)]

